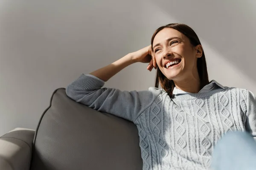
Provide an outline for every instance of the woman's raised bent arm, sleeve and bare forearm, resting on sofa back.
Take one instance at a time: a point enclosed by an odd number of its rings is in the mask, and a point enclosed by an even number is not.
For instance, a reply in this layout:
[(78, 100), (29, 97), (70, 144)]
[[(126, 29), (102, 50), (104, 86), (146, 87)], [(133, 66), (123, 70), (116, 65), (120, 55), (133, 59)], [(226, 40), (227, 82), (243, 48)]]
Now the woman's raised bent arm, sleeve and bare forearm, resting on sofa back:
[(67, 96), (98, 111), (112, 113), (134, 121), (139, 113), (148, 108), (162, 91), (150, 88), (149, 91), (128, 92), (102, 87), (105, 81), (128, 65), (138, 61), (149, 62), (150, 60), (151, 57), (145, 48), (128, 54), (106, 67), (93, 71), (89, 75), (82, 74), (67, 86)]

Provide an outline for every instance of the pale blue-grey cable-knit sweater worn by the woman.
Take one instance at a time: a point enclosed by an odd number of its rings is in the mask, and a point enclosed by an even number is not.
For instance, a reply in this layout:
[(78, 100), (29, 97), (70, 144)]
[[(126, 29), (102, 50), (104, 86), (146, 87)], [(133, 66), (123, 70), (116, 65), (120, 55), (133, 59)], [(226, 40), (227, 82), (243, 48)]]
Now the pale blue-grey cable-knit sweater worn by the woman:
[(256, 138), (256, 98), (239, 88), (216, 88), (170, 98), (163, 89), (120, 91), (82, 74), (67, 96), (137, 125), (143, 170), (207, 170), (213, 147), (227, 131)]

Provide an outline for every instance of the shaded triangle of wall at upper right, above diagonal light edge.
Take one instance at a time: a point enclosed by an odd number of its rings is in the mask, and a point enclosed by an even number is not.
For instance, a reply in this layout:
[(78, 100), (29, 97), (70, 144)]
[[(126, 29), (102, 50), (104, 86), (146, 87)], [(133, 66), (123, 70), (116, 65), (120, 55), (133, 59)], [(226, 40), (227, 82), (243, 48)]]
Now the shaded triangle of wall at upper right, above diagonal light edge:
[(169, 16), (191, 26), (212, 49), (256, 82), (256, 23), (253, 22), (256, 20), (256, 12), (253, 11), (256, 3), (249, 0), (232, 3), (218, 0), (151, 2)]

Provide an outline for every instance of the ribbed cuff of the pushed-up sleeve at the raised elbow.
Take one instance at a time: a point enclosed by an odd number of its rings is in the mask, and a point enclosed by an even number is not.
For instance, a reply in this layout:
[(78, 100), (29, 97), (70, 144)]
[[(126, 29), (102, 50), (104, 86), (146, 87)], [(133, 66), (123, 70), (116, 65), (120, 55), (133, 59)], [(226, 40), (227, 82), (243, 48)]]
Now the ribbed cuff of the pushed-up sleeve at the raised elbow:
[(81, 76), (71, 83), (73, 87), (76, 87), (81, 90), (96, 90), (99, 88), (102, 88), (104, 86), (105, 82), (102, 81), (99, 78), (95, 78), (93, 75), (84, 75), (81, 74)]

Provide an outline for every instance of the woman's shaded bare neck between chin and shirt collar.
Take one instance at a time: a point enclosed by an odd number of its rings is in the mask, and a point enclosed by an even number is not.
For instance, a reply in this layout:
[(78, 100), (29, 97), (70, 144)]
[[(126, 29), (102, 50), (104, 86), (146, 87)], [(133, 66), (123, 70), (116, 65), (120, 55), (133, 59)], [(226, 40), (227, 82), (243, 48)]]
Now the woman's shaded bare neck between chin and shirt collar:
[(201, 90), (200, 79), (198, 78), (189, 78), (182, 81), (174, 81), (177, 89), (186, 91), (189, 93), (198, 93)]

